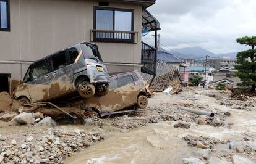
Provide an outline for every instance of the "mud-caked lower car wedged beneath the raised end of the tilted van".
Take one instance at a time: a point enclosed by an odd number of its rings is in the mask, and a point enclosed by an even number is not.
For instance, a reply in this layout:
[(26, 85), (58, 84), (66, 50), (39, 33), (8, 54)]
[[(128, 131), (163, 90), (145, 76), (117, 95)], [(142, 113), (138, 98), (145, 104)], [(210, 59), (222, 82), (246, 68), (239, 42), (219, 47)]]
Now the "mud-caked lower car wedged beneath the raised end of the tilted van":
[(126, 107), (147, 107), (147, 90), (139, 72), (127, 72), (110, 76), (109, 92), (105, 96), (93, 96), (85, 100), (87, 109), (98, 113), (115, 112)]

